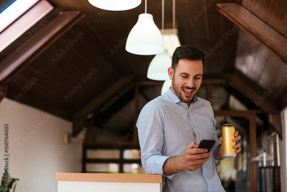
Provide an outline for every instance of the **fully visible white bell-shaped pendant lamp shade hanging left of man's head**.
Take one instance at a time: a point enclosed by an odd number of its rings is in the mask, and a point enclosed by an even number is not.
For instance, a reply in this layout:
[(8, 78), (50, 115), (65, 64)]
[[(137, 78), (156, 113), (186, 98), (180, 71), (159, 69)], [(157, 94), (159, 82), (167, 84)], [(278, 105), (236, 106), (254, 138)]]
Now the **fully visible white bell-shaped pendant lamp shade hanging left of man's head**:
[(151, 14), (139, 15), (127, 37), (126, 50), (137, 55), (156, 55), (164, 50), (162, 35)]

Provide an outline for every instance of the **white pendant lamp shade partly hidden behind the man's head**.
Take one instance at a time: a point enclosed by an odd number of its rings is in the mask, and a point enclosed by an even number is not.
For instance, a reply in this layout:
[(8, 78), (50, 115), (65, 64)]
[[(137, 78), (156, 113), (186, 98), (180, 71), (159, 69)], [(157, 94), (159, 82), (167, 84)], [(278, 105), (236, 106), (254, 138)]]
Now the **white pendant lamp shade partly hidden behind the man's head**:
[(168, 55), (166, 49), (156, 56), (148, 66), (147, 77), (152, 80), (165, 81), (169, 79), (168, 68), (171, 67), (171, 57)]

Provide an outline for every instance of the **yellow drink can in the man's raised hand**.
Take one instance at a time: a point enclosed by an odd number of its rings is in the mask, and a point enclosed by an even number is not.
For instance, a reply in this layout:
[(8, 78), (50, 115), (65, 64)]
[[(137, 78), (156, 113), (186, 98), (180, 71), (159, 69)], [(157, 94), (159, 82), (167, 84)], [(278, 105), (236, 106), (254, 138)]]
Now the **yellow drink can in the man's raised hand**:
[(236, 152), (233, 148), (235, 142), (234, 139), (235, 127), (233, 124), (224, 124), (222, 126), (222, 146), (223, 146), (223, 157), (224, 158), (234, 158), (236, 157)]

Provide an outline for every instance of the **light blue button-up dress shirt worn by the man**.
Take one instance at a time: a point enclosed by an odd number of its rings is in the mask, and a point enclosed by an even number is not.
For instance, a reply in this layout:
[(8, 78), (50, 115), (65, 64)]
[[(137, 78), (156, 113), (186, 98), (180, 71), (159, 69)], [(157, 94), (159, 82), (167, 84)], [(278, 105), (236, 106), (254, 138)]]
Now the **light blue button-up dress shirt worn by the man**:
[(141, 147), (141, 163), (148, 174), (163, 174), (169, 157), (180, 156), (193, 141), (216, 141), (212, 157), (195, 171), (184, 170), (165, 175), (162, 191), (224, 191), (215, 169), (214, 151), (220, 144), (215, 132), (216, 121), (210, 102), (196, 95), (189, 108), (169, 89), (147, 103), (139, 114), (137, 128)]

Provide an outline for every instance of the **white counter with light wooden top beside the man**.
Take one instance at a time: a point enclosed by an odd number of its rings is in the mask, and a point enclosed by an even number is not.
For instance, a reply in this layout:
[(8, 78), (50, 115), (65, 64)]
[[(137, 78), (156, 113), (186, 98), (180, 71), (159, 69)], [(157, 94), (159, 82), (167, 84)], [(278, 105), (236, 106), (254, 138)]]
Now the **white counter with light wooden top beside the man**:
[(159, 192), (165, 176), (148, 174), (56, 173), (58, 192)]

